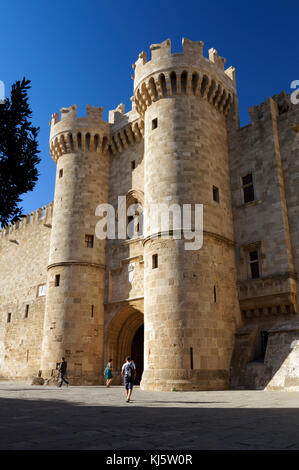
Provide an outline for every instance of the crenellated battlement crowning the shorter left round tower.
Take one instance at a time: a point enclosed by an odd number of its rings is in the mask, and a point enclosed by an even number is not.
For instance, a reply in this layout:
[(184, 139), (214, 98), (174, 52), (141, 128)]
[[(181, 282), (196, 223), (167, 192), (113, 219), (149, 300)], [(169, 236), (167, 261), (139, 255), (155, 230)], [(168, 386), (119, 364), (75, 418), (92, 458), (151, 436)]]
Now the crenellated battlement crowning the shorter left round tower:
[(72, 152), (106, 153), (110, 124), (103, 120), (103, 108), (86, 106), (86, 116), (77, 117), (77, 106), (61, 108), (50, 122), (50, 154), (57, 163), (61, 155)]

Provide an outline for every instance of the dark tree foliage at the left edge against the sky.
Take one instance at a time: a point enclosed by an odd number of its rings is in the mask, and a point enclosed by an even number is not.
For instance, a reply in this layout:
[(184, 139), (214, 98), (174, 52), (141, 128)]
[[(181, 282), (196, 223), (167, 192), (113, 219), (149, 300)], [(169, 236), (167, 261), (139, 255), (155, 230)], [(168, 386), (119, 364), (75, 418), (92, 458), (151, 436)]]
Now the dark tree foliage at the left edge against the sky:
[(11, 88), (10, 99), (0, 104), (0, 224), (22, 216), (20, 196), (32, 191), (38, 179), (38, 127), (30, 121), (30, 80), (25, 77)]

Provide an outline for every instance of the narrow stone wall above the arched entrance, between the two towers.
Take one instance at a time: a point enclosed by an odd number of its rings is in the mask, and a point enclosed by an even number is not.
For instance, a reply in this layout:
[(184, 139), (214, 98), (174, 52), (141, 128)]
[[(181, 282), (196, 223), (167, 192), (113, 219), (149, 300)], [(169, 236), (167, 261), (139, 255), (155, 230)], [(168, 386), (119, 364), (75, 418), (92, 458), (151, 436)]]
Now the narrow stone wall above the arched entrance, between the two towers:
[[(118, 218), (130, 205), (144, 202), (144, 144), (130, 145), (111, 156), (109, 203), (113, 205)], [(132, 167), (132, 162), (134, 165)], [(118, 198), (124, 200), (119, 204)], [(124, 203), (124, 204), (123, 204)], [(107, 241), (106, 250), (106, 302), (123, 301), (143, 297), (143, 236), (132, 239)], [(129, 273), (131, 273), (129, 275)]]

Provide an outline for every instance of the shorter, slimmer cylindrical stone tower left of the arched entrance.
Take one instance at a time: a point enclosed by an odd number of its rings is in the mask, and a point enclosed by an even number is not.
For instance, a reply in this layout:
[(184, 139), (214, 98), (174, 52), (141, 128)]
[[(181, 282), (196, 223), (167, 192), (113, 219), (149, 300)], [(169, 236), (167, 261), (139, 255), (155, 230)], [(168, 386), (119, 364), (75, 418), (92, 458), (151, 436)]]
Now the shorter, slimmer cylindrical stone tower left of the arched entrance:
[(41, 370), (51, 377), (61, 356), (73, 384), (102, 381), (105, 240), (95, 236), (96, 207), (108, 202), (109, 124), (102, 108), (76, 106), (52, 116), (57, 164)]

